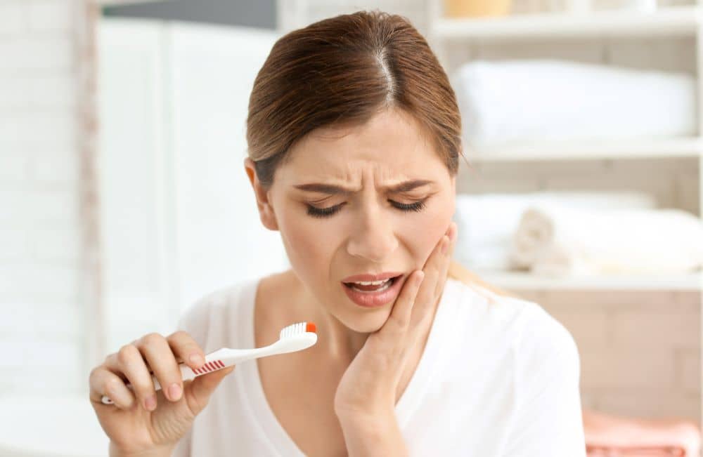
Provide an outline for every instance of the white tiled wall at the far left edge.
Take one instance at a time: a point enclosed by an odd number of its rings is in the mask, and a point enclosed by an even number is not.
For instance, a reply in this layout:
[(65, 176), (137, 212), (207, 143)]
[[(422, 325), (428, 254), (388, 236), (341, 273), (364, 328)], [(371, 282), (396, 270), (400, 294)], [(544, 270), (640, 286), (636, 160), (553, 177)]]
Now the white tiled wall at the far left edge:
[[(0, 394), (82, 378), (70, 0), (0, 0)], [(87, 376), (87, 375), (86, 375)]]

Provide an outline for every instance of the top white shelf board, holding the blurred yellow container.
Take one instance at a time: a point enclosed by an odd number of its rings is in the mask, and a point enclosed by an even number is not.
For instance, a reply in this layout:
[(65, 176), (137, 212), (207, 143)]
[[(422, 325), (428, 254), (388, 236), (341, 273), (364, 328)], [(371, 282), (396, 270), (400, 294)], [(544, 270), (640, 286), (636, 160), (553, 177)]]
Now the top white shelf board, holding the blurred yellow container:
[(661, 8), (652, 13), (594, 11), (541, 13), (501, 18), (440, 18), (431, 27), (439, 39), (539, 39), (593, 37), (653, 37), (692, 35), (701, 24), (697, 6)]

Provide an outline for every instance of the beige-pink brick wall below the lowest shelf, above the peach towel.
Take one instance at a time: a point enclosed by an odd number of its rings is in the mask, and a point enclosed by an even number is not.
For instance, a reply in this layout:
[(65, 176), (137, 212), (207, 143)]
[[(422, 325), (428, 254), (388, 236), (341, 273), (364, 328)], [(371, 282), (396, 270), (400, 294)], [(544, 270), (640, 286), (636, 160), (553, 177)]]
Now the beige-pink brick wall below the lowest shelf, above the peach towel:
[(518, 291), (574, 336), (583, 406), (699, 420), (700, 303), (696, 291)]

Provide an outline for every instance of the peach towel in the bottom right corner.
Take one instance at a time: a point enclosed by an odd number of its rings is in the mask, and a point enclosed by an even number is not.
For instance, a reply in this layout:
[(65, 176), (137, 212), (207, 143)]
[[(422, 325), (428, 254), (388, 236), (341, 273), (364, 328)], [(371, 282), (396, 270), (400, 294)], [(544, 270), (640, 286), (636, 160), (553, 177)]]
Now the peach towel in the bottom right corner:
[(633, 419), (583, 411), (588, 457), (699, 457), (701, 435), (691, 420)]

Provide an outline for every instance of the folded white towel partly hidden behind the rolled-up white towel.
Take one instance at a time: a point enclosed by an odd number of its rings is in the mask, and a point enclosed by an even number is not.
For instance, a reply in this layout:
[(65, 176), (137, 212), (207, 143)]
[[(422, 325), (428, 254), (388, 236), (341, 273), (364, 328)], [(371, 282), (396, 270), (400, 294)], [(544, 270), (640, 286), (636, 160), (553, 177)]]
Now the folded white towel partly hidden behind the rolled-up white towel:
[(454, 256), (477, 270), (508, 270), (512, 237), (522, 213), (533, 204), (578, 208), (654, 208), (644, 192), (531, 192), (527, 194), (458, 194), (454, 220), (458, 238)]

